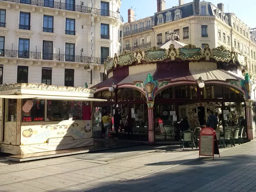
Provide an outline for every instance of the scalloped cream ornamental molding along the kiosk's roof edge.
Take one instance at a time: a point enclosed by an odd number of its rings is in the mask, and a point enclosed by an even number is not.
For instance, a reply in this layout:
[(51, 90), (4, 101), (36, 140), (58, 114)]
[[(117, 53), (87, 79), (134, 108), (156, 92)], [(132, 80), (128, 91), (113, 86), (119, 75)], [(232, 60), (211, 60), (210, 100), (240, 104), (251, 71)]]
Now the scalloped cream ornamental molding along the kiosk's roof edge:
[(79, 92), (79, 93), (93, 93), (93, 90), (82, 87), (66, 87), (54, 86), (46, 84), (34, 83), (15, 83), (0, 85), (0, 91), (13, 90), (13, 89), (30, 89), (30, 90), (47, 90), (47, 91), (66, 91), (66, 92)]

